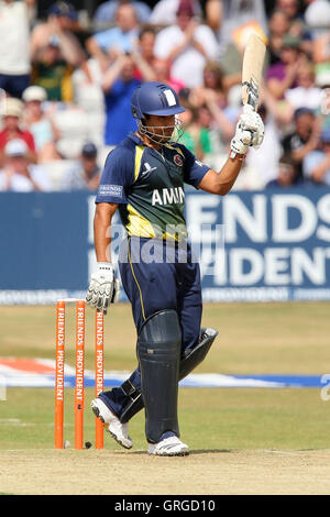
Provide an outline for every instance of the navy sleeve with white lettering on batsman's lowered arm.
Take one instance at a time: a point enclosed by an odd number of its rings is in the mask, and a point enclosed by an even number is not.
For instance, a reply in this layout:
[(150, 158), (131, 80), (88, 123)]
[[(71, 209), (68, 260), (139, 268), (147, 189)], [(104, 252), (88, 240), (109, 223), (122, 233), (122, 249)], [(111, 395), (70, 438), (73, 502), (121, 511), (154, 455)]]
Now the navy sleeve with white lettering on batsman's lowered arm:
[(125, 205), (127, 193), (134, 183), (133, 156), (128, 150), (117, 147), (107, 157), (97, 191), (96, 204)]

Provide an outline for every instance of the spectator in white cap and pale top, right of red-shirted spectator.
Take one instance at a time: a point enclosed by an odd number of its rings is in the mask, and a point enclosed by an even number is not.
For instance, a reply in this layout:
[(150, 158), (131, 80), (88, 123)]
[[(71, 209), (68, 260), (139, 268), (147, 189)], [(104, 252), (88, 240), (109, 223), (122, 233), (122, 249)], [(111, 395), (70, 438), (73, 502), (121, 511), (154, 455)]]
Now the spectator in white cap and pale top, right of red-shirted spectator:
[(61, 158), (56, 150), (59, 132), (43, 110), (46, 100), (47, 92), (41, 86), (30, 86), (23, 91), (23, 101), (25, 102), (24, 122), (33, 134), (38, 163)]

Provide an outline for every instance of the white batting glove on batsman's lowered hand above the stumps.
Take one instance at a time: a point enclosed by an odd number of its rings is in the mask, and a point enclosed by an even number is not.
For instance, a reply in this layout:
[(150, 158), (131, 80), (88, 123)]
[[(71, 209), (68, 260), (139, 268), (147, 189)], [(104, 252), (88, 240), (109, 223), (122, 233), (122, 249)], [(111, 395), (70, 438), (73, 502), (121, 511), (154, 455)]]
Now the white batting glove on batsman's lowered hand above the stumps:
[(110, 262), (98, 262), (97, 272), (91, 275), (86, 302), (106, 315), (109, 304), (114, 304), (118, 297), (119, 280), (114, 277), (113, 265)]

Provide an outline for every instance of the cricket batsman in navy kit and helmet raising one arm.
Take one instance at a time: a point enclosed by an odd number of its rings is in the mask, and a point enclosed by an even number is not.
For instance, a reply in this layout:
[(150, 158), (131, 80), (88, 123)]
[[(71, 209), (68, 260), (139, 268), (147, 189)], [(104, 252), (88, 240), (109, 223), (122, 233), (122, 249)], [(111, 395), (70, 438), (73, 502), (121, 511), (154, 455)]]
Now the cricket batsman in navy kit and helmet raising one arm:
[(129, 420), (144, 407), (147, 452), (186, 455), (189, 448), (180, 440), (177, 415), (178, 382), (205, 359), (218, 331), (200, 327), (200, 273), (187, 240), (184, 185), (228, 194), (249, 150), (243, 141), (257, 148), (264, 125), (255, 111), (244, 108), (229, 157), (216, 172), (172, 141), (177, 116), (185, 110), (169, 86), (144, 82), (134, 90), (131, 109), (138, 130), (108, 155), (97, 194), (97, 271), (86, 300), (107, 314), (116, 299), (109, 227), (119, 210), (127, 230), (119, 270), (132, 305), (139, 366), (120, 387), (95, 398), (91, 407), (125, 449), (133, 446)]

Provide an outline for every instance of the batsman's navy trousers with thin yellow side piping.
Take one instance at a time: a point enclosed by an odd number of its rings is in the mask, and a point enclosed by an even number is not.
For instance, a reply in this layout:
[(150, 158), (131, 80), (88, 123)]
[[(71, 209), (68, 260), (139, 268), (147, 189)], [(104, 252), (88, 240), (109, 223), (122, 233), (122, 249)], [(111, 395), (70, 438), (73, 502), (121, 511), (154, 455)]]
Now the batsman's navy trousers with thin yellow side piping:
[[(146, 318), (162, 309), (174, 309), (180, 322), (182, 350), (195, 346), (202, 304), (199, 265), (193, 261), (189, 244), (129, 238), (121, 244), (119, 268), (138, 336)], [(141, 389), (139, 369), (130, 382)], [(118, 417), (128, 402), (121, 388), (105, 392), (101, 398)]]

